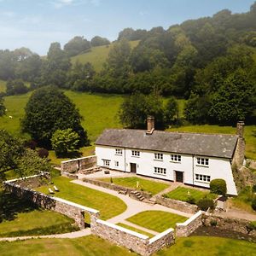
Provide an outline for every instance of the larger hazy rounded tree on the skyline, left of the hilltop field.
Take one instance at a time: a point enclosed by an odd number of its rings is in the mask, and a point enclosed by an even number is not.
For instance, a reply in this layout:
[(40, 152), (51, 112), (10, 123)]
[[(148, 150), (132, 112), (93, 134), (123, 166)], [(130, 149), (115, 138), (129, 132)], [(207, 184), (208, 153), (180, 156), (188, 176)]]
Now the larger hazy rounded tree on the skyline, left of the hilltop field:
[(64, 45), (64, 50), (69, 57), (79, 55), (79, 53), (86, 49), (90, 49), (90, 42), (84, 37), (74, 37)]

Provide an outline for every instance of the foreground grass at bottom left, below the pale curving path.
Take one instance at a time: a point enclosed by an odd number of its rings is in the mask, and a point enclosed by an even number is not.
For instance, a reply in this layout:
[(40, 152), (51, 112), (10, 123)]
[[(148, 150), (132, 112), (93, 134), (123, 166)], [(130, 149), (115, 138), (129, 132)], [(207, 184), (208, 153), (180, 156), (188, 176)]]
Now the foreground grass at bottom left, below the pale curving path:
[(61, 255), (61, 256), (128, 256), (136, 255), (123, 247), (113, 245), (96, 236), (84, 236), (76, 239), (32, 239), (26, 241), (1, 241), (1, 256)]

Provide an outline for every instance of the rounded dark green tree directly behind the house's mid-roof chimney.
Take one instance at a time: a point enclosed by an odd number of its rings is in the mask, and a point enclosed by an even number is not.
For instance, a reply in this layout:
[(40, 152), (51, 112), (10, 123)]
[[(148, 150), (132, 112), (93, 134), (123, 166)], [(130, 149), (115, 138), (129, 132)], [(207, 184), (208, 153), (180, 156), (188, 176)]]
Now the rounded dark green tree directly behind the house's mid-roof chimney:
[(119, 109), (121, 123), (133, 129), (145, 129), (148, 115), (154, 116), (156, 129), (164, 129), (163, 102), (159, 96), (134, 94), (125, 99)]

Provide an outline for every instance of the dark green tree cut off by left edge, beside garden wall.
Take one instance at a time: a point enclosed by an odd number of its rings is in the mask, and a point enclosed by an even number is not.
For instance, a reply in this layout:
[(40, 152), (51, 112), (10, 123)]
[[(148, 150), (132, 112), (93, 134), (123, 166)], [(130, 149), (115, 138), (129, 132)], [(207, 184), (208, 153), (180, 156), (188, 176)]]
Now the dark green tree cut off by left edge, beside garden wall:
[(0, 130), (0, 148), (0, 172), (14, 169), (17, 160), (24, 154), (22, 140), (11, 136), (5, 130)]

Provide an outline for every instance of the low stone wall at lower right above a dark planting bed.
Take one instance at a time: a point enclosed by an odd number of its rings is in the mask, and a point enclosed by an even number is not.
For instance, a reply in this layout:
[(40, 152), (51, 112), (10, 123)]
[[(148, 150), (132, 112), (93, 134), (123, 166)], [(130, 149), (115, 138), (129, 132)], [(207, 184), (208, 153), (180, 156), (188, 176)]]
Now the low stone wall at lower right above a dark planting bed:
[(202, 224), (204, 226), (216, 226), (221, 230), (230, 230), (241, 234), (252, 236), (256, 241), (256, 230), (248, 232), (247, 226), (250, 224), (249, 220), (240, 218), (226, 218), (210, 213), (204, 213), (202, 216)]

